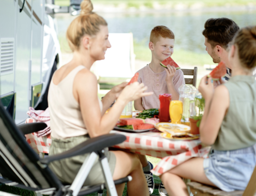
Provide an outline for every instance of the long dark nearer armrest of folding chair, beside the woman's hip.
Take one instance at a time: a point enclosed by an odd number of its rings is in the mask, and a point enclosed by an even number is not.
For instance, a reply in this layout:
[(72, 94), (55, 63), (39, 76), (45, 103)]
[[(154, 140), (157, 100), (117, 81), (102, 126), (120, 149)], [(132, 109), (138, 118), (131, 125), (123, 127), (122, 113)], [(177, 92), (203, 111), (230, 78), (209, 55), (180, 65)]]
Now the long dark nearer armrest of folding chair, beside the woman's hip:
[(125, 140), (126, 140), (126, 136), (121, 134), (101, 135), (98, 137), (88, 139), (82, 142), (81, 144), (75, 146), (74, 148), (67, 150), (66, 152), (62, 152), (60, 154), (56, 154), (53, 156), (47, 156), (45, 159), (41, 159), (40, 162), (42, 164), (49, 164), (52, 161), (66, 159), (72, 156), (86, 154), (89, 152), (99, 151), (106, 147), (120, 144)]

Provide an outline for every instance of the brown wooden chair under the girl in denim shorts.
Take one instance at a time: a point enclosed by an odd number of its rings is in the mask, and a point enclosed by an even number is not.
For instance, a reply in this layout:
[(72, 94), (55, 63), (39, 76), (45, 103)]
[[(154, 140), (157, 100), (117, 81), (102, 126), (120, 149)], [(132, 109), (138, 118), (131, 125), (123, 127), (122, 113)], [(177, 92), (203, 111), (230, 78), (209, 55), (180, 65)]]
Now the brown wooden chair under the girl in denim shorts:
[(256, 196), (256, 167), (254, 168), (251, 179), (244, 191), (225, 192), (216, 187), (201, 184), (198, 182), (188, 182), (191, 193), (194, 196)]

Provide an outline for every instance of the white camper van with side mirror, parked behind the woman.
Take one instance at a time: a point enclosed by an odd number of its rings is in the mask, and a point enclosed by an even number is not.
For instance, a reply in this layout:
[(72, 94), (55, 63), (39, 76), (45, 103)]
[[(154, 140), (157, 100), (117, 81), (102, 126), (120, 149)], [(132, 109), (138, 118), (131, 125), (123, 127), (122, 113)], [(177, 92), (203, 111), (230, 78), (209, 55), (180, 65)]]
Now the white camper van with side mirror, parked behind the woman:
[(80, 3), (0, 0), (0, 99), (16, 124), (26, 120), (29, 106), (48, 107), (49, 81), (61, 60), (54, 14), (74, 12)]

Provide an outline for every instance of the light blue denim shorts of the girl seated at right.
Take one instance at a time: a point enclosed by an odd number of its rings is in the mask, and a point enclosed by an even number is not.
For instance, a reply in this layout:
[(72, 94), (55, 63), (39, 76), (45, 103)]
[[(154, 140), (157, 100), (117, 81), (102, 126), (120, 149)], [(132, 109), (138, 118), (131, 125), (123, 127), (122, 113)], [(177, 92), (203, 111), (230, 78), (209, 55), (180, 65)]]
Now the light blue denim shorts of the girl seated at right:
[(204, 159), (207, 178), (223, 191), (245, 190), (256, 164), (256, 145), (238, 150), (211, 150)]

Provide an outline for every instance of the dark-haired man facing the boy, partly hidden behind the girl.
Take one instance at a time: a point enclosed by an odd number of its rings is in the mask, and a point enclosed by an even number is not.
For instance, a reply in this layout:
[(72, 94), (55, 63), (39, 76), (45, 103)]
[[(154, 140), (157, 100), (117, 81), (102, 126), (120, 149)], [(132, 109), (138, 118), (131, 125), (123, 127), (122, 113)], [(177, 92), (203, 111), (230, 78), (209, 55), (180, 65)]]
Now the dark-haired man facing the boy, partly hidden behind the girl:
[(228, 43), (239, 31), (239, 27), (228, 18), (210, 18), (204, 24), (203, 35), (205, 50), (212, 57), (214, 63), (224, 61), (227, 67), (225, 79), (231, 77), (231, 66), (228, 61)]

